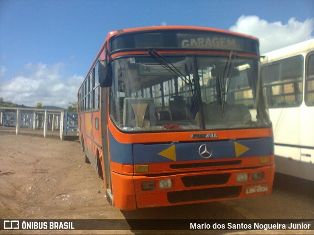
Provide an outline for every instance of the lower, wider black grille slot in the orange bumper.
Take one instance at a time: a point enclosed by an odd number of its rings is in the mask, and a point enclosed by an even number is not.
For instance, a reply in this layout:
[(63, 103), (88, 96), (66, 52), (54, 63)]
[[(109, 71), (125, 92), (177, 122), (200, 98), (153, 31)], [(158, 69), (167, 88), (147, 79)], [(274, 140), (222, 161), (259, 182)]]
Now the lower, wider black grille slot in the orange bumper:
[(228, 186), (215, 188), (202, 188), (168, 192), (167, 197), (170, 203), (202, 201), (218, 198), (233, 198), (240, 195), (242, 186)]

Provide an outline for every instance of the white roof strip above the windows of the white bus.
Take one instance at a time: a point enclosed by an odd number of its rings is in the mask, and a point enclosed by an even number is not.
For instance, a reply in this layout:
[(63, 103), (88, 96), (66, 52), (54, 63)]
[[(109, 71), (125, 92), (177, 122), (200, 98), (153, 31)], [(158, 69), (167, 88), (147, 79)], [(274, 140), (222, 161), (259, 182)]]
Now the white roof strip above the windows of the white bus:
[(272, 52), (267, 52), (263, 54), (264, 56), (267, 57), (264, 59), (263, 62), (264, 63), (271, 62), (274, 60), (283, 59), (286, 57), (290, 57), (290, 56), (305, 53), (305, 52), (310, 52), (313, 50), (314, 50), (314, 38), (304, 41), (304, 42), (296, 43), (291, 46), (284, 47), (284, 48), (281, 48)]

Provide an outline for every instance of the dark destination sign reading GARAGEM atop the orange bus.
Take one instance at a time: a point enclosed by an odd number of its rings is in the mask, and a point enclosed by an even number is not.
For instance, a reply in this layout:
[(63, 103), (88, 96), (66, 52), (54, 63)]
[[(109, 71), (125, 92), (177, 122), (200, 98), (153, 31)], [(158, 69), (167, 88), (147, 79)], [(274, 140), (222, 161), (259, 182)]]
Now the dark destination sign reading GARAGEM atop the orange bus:
[(205, 30), (154, 30), (121, 33), (109, 41), (110, 53), (130, 50), (230, 50), (259, 54), (259, 42)]

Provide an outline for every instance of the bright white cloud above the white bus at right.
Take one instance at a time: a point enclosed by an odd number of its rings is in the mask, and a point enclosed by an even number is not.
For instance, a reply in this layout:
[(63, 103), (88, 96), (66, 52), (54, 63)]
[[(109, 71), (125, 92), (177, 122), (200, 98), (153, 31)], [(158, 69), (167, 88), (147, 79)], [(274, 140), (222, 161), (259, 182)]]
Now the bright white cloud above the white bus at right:
[(299, 22), (292, 17), (283, 24), (267, 22), (258, 16), (241, 16), (229, 29), (258, 37), (262, 54), (313, 38), (314, 18)]

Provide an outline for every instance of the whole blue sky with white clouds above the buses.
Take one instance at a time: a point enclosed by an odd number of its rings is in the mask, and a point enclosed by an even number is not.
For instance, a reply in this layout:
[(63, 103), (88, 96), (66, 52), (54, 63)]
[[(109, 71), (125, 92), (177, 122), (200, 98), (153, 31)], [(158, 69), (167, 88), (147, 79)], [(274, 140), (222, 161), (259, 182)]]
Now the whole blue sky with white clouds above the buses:
[(109, 31), (160, 25), (249, 34), (265, 53), (314, 38), (314, 0), (0, 0), (0, 97), (67, 108)]

